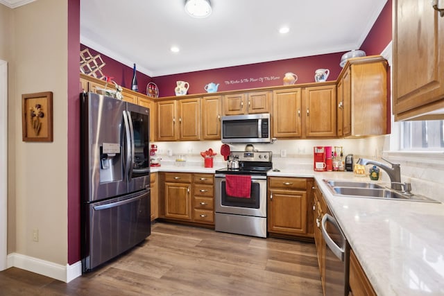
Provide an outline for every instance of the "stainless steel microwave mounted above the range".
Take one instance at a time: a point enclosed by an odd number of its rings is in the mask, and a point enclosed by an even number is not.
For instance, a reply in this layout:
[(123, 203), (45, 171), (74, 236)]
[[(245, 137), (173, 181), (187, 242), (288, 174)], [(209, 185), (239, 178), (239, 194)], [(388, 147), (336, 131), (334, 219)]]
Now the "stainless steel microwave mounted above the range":
[(222, 116), (222, 143), (270, 143), (270, 114)]

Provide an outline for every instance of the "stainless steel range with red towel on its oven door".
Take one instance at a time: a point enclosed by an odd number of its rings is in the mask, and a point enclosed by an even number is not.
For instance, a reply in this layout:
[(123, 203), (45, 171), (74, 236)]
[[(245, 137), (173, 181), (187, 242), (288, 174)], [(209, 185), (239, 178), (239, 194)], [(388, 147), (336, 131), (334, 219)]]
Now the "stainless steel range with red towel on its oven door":
[[(232, 151), (230, 168), (216, 170), (217, 232), (266, 237), (266, 173), (273, 168), (271, 155), (270, 151)], [(233, 166), (235, 162), (239, 165)]]

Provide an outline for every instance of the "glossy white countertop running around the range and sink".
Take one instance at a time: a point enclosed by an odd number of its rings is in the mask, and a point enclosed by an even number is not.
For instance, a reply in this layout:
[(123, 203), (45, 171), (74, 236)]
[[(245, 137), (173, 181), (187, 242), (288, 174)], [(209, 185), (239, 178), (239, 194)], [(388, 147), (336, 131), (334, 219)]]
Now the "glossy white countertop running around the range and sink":
[[(214, 173), (217, 168), (161, 166), (151, 171)], [(324, 179), (370, 182), (349, 172), (284, 168), (268, 176), (315, 178), (377, 295), (444, 295), (443, 203), (332, 195)]]

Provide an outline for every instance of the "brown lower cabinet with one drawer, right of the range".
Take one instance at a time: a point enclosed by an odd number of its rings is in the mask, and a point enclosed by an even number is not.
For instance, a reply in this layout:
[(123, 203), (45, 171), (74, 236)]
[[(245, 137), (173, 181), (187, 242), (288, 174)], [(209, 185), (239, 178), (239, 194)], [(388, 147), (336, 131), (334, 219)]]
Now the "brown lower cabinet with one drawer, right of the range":
[(270, 236), (313, 238), (309, 207), (311, 178), (268, 177), (267, 223)]

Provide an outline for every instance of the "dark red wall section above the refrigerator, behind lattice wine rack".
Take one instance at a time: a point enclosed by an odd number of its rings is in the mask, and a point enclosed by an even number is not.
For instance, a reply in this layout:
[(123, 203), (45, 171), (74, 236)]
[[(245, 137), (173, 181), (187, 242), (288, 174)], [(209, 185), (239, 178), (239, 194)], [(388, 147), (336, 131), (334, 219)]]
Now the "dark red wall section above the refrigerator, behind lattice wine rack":
[[(112, 80), (114, 80), (118, 85), (126, 87), (127, 89), (131, 89), (131, 80), (133, 80), (132, 67), (128, 67), (124, 64), (121, 64), (120, 62), (117, 62), (117, 60), (113, 60), (112, 58), (108, 57), (107, 55), (104, 55), (103, 53), (99, 53), (98, 51), (95, 51), (90, 47), (80, 44), (80, 51), (83, 51), (84, 49), (89, 49), (89, 53), (91, 53), (91, 55), (100, 54), (103, 62), (105, 62), (105, 66), (103, 66), (102, 68), (103, 75), (111, 76)], [(136, 71), (137, 71), (137, 64), (136, 64)], [(139, 85), (139, 92), (142, 94), (146, 94), (146, 85), (148, 84), (148, 82), (151, 82), (152, 80), (151, 77), (139, 71), (137, 71), (136, 75), (137, 75), (137, 85)]]

